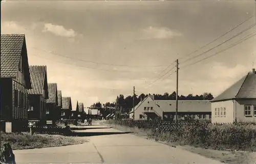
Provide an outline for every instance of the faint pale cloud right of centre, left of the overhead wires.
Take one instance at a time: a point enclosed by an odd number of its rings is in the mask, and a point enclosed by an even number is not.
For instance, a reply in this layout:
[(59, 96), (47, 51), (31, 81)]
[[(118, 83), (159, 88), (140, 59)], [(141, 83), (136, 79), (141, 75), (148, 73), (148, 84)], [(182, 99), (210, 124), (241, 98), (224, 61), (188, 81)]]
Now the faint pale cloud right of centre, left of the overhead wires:
[(180, 33), (174, 32), (168, 28), (156, 28), (153, 26), (149, 26), (148, 28), (143, 29), (141, 32), (141, 39), (167, 39), (181, 36)]

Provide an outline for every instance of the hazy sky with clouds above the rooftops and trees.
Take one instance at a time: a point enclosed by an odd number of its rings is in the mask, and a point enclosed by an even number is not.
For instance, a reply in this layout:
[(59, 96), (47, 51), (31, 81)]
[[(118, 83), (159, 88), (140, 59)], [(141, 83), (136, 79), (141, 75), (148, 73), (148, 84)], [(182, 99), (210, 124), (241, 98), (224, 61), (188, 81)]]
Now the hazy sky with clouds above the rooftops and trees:
[(132, 95), (134, 86), (137, 95), (172, 93), (177, 59), (179, 95), (217, 96), (256, 67), (255, 36), (228, 48), (255, 32), (252, 26), (241, 33), (255, 23), (255, 17), (227, 33), (255, 16), (255, 5), (255, 1), (1, 1), (1, 34), (26, 35), (29, 65), (46, 65), (48, 83), (57, 83), (62, 96), (71, 97), (74, 110), (76, 101), (88, 107), (97, 101), (114, 102), (119, 94)]

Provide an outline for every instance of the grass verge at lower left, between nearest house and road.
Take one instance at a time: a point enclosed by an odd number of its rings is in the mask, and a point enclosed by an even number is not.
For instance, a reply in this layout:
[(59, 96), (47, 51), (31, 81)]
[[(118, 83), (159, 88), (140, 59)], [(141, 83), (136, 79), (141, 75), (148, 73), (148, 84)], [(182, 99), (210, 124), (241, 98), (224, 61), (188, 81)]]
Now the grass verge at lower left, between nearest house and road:
[(82, 144), (87, 142), (87, 140), (74, 136), (48, 134), (31, 135), (27, 132), (5, 133), (1, 131), (1, 148), (6, 142), (10, 143), (13, 150), (21, 150)]

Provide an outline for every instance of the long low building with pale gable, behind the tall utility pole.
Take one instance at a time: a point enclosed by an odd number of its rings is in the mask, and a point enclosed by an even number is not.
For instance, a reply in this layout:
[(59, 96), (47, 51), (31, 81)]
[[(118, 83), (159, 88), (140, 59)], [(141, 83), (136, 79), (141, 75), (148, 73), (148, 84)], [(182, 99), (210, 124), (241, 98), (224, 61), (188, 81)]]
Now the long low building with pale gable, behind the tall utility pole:
[[(133, 119), (133, 109), (130, 112)], [(135, 106), (135, 120), (176, 120), (176, 100), (155, 100), (148, 95)], [(209, 100), (179, 100), (178, 119), (211, 119)]]

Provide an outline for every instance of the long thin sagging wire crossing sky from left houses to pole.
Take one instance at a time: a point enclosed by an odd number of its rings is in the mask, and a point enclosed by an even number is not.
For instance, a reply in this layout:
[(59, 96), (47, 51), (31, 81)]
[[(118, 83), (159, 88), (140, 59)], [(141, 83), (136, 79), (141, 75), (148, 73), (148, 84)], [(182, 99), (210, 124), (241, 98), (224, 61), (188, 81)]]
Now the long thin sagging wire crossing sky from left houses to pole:
[(79, 60), (79, 61), (83, 61), (83, 62), (87, 62), (87, 63), (94, 63), (94, 64), (102, 64), (102, 65), (109, 65), (109, 66), (118, 66), (118, 67), (164, 67), (166, 65), (155, 65), (155, 66), (132, 66), (132, 65), (117, 65), (117, 64), (109, 64), (109, 63), (101, 63), (101, 62), (93, 62), (93, 61), (88, 61), (88, 60), (83, 60), (83, 59), (78, 59), (78, 58), (71, 58), (71, 57), (67, 57), (67, 56), (63, 56), (61, 54), (58, 54), (58, 53), (55, 53), (55, 52), (49, 52), (49, 51), (46, 51), (46, 50), (43, 50), (43, 49), (39, 49), (39, 48), (36, 48), (36, 47), (32, 47), (33, 49), (37, 49), (37, 50), (40, 50), (40, 51), (43, 51), (43, 52), (46, 52), (46, 53), (51, 53), (51, 54), (54, 54), (54, 55), (57, 55), (57, 56), (60, 56), (60, 57), (63, 57), (63, 58), (68, 58), (68, 59), (73, 59), (73, 60)]

